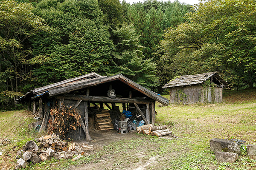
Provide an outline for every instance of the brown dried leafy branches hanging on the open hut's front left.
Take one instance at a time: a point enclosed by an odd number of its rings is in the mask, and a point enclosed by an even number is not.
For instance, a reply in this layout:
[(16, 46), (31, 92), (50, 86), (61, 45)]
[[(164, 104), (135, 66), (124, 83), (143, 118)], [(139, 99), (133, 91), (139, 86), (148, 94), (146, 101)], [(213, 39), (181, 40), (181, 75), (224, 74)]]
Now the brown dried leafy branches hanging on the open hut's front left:
[(69, 108), (63, 106), (61, 109), (51, 109), (48, 133), (56, 133), (65, 139), (66, 133), (69, 130), (76, 130), (81, 127), (80, 117), (79, 111), (72, 106)]

